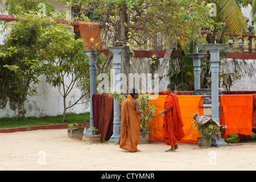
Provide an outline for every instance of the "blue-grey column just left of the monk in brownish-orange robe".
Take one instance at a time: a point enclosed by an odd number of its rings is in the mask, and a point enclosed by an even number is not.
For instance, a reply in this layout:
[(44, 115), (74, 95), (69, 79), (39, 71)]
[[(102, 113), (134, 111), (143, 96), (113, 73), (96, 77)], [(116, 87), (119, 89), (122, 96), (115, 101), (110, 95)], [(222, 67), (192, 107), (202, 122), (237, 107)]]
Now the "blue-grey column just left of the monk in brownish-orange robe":
[[(125, 47), (108, 47), (109, 51), (113, 53), (113, 85), (114, 90), (120, 93), (121, 88), (119, 82), (121, 81), (121, 54), (125, 50)], [(113, 89), (113, 88), (112, 88)], [(109, 142), (118, 142), (121, 130), (121, 110), (118, 102), (114, 100), (114, 121), (113, 121), (113, 135), (110, 137)]]

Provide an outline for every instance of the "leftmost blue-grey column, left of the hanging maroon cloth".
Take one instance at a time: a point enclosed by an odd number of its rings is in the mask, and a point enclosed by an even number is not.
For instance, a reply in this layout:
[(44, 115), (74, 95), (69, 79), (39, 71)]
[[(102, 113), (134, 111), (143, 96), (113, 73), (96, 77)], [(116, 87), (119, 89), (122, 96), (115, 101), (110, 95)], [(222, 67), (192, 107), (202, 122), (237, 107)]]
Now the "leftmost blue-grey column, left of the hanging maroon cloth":
[[(90, 127), (93, 126), (93, 94), (96, 93), (96, 67), (94, 61), (96, 61), (95, 51), (83, 51), (89, 57), (89, 71), (90, 71)], [(92, 135), (92, 129), (85, 131), (84, 136)]]

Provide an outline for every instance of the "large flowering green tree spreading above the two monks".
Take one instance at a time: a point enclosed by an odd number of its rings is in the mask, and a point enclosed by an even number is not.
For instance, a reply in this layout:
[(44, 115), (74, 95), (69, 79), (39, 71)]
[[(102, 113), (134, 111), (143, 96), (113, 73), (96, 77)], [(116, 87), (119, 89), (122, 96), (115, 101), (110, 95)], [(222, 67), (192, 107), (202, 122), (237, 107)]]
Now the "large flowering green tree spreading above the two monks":
[[(123, 41), (127, 50), (129, 50), (130, 40), (135, 40), (141, 45), (150, 39), (154, 40), (157, 35), (170, 40), (166, 56), (160, 65), (160, 79), (163, 77), (164, 68), (177, 40), (184, 44), (188, 38), (200, 37), (201, 27), (212, 27), (212, 20), (205, 16), (206, 4), (199, 0), (80, 0), (76, 5), (81, 6), (82, 14), (88, 15), (90, 19), (108, 23), (106, 28), (113, 26), (111, 27), (114, 30), (113, 42)], [(135, 30), (139, 30), (141, 34)], [(129, 73), (129, 52), (125, 52), (124, 57), (128, 60), (124, 61), (127, 63), (125, 73)]]

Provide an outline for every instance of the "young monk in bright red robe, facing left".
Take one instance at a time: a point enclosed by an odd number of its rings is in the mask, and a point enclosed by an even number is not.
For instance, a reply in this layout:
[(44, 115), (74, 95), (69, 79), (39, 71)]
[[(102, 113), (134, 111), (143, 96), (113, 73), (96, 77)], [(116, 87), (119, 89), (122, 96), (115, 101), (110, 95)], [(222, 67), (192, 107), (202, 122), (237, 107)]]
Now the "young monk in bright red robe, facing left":
[(163, 118), (163, 141), (171, 146), (166, 152), (175, 152), (177, 143), (184, 137), (183, 121), (180, 113), (179, 101), (174, 93), (175, 84), (167, 85), (168, 96), (164, 101), (164, 110), (160, 111), (159, 115), (164, 114)]

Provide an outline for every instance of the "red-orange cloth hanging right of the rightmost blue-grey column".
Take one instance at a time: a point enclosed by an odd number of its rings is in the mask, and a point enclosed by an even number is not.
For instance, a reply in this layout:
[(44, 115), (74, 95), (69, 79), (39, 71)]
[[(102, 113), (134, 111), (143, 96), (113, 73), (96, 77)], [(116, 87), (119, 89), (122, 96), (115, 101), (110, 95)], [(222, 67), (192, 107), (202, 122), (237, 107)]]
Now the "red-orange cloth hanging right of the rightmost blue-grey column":
[(253, 116), (253, 95), (220, 95), (220, 124), (224, 138), (230, 134), (251, 135)]

